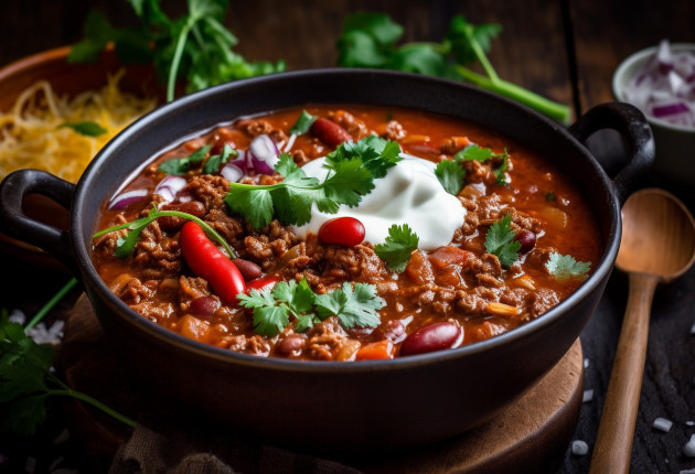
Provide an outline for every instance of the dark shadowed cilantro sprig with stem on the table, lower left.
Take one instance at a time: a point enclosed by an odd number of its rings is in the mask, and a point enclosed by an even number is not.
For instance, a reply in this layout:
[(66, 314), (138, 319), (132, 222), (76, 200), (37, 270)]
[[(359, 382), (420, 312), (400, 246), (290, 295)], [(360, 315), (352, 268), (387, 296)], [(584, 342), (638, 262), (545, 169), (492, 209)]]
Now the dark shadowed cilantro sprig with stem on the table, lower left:
[(72, 390), (51, 373), (55, 351), (36, 344), (24, 328), (0, 312), (0, 431), (19, 437), (32, 435), (46, 418), (45, 401), (61, 395), (85, 401), (129, 427), (136, 422), (94, 398)]

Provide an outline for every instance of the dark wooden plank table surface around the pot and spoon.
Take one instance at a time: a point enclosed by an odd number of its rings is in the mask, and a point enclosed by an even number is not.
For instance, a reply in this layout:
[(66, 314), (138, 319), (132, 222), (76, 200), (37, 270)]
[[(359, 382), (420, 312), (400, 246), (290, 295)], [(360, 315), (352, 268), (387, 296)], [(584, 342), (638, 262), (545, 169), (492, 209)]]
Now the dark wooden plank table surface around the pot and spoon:
[[(2, 3), (0, 65), (77, 41), (85, 15), (93, 8), (116, 25), (135, 23), (122, 0)], [(168, 11), (184, 9), (183, 1), (169, 3), (172, 4)], [(335, 63), (334, 42), (342, 18), (357, 10), (389, 13), (405, 26), (408, 41), (440, 40), (449, 19), (457, 13), (473, 23), (500, 23), (503, 32), (489, 54), (499, 75), (570, 104), (575, 117), (612, 100), (612, 72), (630, 53), (664, 37), (672, 42), (695, 41), (695, 2), (691, 0), (255, 0), (233, 2), (226, 24), (239, 39), (235, 51), (249, 60), (285, 60), (291, 69), (327, 67)], [(606, 143), (592, 147), (597, 153), (611, 152), (606, 151)], [(693, 190), (670, 186), (657, 176), (652, 182), (675, 192), (695, 211)], [(11, 266), (15, 273), (3, 283), (0, 306), (21, 309), (28, 314), (35, 312), (67, 279), (21, 262), (3, 263), (3, 268)], [(70, 294), (52, 317), (60, 317), (70, 309), (77, 294), (77, 290)], [(695, 336), (689, 334), (695, 324), (694, 295), (695, 270), (657, 289), (632, 451), (633, 473), (678, 473), (695, 467), (695, 457), (682, 453), (695, 432), (686, 424), (695, 420)], [(581, 335), (589, 364), (585, 384), (594, 390), (594, 400), (582, 407), (575, 439), (586, 441), (589, 448), (596, 437), (626, 299), (627, 279), (616, 271)], [(670, 432), (652, 428), (657, 417), (674, 422)], [(587, 472), (589, 461), (590, 455), (577, 456), (568, 450), (557, 472)]]

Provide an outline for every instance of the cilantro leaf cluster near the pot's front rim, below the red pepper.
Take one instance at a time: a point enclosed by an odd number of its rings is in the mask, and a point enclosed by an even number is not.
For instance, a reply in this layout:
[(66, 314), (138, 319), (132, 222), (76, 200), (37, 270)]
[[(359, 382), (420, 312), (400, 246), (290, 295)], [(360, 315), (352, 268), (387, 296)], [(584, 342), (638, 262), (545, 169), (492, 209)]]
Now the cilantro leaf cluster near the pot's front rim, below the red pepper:
[(376, 327), (381, 322), (376, 311), (386, 304), (376, 295), (374, 284), (355, 283), (353, 288), (345, 282), (342, 289), (316, 294), (307, 280), (280, 281), (272, 290), (252, 290), (237, 298), (242, 306), (254, 310), (254, 330), (268, 337), (282, 332), (290, 316), (297, 321), (295, 330), (298, 332), (331, 315), (338, 316), (345, 328)]

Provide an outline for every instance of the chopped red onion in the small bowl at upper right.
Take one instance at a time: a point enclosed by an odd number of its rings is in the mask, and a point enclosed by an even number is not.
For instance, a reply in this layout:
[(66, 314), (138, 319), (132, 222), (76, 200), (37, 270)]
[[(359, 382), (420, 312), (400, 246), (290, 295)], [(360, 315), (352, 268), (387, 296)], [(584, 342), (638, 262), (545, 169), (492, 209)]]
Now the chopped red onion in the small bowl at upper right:
[(623, 94), (653, 118), (695, 128), (695, 54), (674, 52), (663, 40)]

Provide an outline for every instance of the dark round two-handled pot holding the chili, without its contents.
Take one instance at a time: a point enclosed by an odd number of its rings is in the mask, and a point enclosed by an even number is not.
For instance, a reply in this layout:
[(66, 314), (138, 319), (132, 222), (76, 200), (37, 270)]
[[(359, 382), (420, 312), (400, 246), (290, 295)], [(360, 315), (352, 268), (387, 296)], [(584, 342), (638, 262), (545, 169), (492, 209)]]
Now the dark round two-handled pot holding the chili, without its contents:
[[(398, 106), (459, 117), (555, 158), (596, 212), (603, 252), (592, 276), (548, 313), (489, 341), (359, 363), (259, 358), (203, 345), (139, 316), (109, 291), (90, 260), (99, 205), (143, 160), (220, 122), (311, 103)], [(603, 128), (623, 133), (634, 151), (614, 180), (581, 144)], [(0, 187), (0, 222), (2, 231), (47, 250), (78, 278), (103, 326), (133, 362), (133, 384), (145, 383), (195, 407), (203, 419), (270, 442), (328, 450), (404, 448), (491, 419), (563, 357), (601, 297), (620, 243), (620, 203), (652, 155), (651, 131), (629, 105), (600, 106), (567, 130), (458, 83), (314, 69), (225, 84), (169, 104), (108, 143), (76, 187), (45, 173), (17, 172)], [(21, 200), (29, 193), (70, 208), (70, 233), (24, 217)]]

